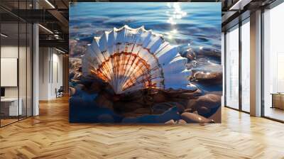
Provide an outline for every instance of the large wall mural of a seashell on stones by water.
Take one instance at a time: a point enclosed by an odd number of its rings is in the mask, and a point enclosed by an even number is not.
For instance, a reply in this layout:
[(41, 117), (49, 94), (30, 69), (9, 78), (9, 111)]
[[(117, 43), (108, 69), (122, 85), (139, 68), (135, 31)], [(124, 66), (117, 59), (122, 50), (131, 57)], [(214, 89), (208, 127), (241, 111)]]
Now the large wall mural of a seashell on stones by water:
[(69, 25), (70, 122), (221, 122), (221, 3), (71, 3)]

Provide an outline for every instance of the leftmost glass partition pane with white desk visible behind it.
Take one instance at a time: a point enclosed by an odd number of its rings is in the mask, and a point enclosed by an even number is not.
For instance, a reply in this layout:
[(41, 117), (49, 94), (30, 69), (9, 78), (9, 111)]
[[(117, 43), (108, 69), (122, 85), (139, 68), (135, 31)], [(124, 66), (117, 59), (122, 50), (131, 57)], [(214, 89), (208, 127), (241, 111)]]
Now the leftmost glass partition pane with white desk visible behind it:
[[(1, 23), (1, 126), (18, 121), (18, 23)], [(20, 107), (18, 107), (20, 104)]]

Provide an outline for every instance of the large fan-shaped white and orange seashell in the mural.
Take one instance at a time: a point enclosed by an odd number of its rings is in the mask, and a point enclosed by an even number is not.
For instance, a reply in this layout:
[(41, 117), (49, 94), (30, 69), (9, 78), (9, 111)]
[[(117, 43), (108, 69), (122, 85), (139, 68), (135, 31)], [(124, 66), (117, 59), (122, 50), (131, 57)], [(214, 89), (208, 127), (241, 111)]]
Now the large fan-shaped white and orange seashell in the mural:
[(190, 84), (187, 58), (162, 35), (123, 26), (94, 37), (82, 57), (83, 76), (108, 82), (116, 94), (140, 89), (195, 90)]

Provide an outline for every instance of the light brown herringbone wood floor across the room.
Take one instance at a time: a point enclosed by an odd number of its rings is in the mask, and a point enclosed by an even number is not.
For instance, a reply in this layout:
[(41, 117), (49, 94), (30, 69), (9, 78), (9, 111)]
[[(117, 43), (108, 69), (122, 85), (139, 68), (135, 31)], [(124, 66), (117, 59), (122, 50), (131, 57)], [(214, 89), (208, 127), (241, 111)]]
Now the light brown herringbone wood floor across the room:
[(222, 124), (69, 124), (68, 101), (0, 128), (0, 158), (284, 158), (284, 124), (222, 109)]

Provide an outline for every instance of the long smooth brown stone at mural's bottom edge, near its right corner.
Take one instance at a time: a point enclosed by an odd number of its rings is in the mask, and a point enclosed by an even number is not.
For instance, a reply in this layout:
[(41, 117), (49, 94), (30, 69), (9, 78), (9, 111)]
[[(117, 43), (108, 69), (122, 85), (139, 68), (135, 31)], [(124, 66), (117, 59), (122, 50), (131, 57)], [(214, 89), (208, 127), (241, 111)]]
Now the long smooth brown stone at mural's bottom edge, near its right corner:
[(207, 119), (204, 116), (188, 112), (182, 113), (181, 118), (187, 123), (214, 123), (212, 119)]

